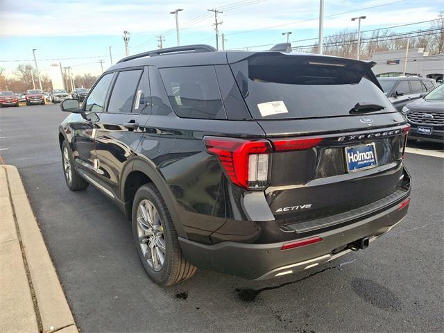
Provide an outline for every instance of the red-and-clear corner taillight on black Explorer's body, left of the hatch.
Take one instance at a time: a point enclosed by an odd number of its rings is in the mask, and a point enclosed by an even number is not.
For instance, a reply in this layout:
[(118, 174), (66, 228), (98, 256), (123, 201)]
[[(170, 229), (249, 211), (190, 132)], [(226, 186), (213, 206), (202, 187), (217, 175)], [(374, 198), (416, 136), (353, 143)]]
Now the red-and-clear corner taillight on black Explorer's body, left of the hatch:
[(244, 189), (265, 189), (268, 186), (270, 142), (231, 137), (204, 137), (203, 142), (207, 151), (219, 158), (235, 185)]

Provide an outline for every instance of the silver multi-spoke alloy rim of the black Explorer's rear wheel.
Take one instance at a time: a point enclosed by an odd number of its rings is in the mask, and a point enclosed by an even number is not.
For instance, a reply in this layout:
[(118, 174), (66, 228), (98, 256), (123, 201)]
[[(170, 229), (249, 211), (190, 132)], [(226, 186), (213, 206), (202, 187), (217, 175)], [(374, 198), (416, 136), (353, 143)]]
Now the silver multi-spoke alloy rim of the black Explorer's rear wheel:
[(148, 265), (154, 271), (160, 271), (167, 253), (164, 229), (157, 209), (147, 199), (142, 200), (137, 207), (137, 237)]

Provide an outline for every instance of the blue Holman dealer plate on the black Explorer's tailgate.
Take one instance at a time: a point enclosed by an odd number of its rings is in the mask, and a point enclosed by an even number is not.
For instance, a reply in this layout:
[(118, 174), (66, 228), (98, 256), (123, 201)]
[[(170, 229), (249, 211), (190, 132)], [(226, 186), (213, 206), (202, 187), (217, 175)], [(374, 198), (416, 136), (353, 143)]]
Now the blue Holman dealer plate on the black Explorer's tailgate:
[(377, 167), (375, 144), (361, 144), (345, 147), (345, 164), (348, 172), (355, 172)]

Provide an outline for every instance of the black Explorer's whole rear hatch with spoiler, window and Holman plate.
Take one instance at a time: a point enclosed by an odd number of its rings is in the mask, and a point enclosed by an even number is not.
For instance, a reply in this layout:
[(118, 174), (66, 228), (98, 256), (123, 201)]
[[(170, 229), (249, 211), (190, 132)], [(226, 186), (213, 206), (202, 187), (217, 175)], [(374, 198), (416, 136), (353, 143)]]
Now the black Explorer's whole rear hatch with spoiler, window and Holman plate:
[(230, 66), (274, 147), (265, 193), (278, 223), (302, 230), (306, 221), (395, 199), (408, 125), (371, 65), (256, 53)]

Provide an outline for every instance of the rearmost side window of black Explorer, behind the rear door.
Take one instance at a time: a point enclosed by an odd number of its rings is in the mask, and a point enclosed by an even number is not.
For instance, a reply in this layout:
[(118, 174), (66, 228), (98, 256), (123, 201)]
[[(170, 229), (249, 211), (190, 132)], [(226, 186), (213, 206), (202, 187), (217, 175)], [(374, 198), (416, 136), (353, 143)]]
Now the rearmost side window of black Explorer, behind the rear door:
[(214, 67), (164, 68), (160, 75), (179, 117), (226, 119)]

